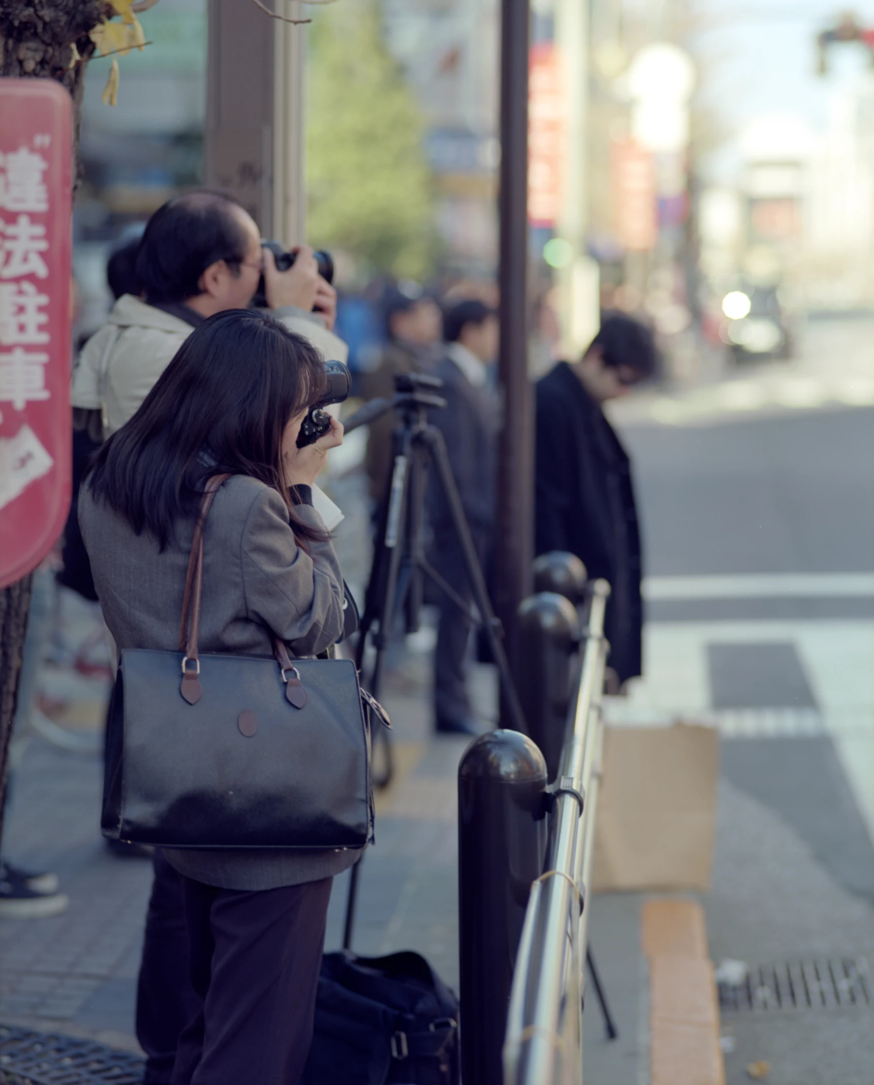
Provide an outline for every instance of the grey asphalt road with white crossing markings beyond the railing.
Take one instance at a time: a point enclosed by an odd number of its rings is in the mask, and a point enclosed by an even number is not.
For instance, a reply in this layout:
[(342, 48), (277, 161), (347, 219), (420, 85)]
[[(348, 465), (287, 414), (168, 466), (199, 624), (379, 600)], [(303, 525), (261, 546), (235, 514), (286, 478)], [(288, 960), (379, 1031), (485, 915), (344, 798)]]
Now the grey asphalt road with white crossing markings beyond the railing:
[[(612, 712), (720, 728), (704, 897), (717, 962), (874, 962), (872, 378), (874, 322), (832, 322), (789, 366), (615, 411), (648, 599), (644, 676)], [(795, 409), (776, 401), (781, 382)], [(840, 406), (841, 395), (871, 401)], [(596, 1085), (630, 1081), (631, 1061), (645, 1060), (638, 907), (594, 901), (592, 944), (621, 1037), (605, 1044), (596, 1013), (584, 1016)], [(867, 1006), (723, 1014), (727, 1081), (741, 1085), (764, 1059), (774, 1085), (869, 1085), (872, 1020)]]

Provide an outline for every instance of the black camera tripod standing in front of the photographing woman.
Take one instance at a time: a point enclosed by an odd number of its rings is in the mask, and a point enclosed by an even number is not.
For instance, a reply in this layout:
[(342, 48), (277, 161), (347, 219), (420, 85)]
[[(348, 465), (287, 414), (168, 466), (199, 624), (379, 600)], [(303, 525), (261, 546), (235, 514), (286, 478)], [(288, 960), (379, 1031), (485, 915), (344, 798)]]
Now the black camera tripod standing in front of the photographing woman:
[[(513, 727), (527, 733), (525, 716), (513, 684), (510, 663), (504, 651), (501, 624), (489, 601), (486, 579), (477, 557), (471, 528), (464, 515), (461, 498), (440, 430), (428, 423), (428, 410), (446, 407), (446, 400), (435, 393), (442, 381), (422, 373), (401, 373), (395, 378), (396, 393), (391, 399), (376, 399), (357, 411), (346, 423), (346, 433), (381, 418), (389, 410), (398, 414), (391, 436), (391, 475), (388, 497), (383, 502), (376, 533), (370, 583), (364, 599), (364, 612), (359, 628), (356, 665), (362, 673), (370, 636), (376, 649), (373, 667), (362, 685), (380, 695), (385, 651), (391, 641), (396, 620), (402, 612), (404, 631), (419, 629), (423, 601), (423, 575), (433, 580), (454, 602), (472, 624), (480, 626), (498, 665), (504, 700), (513, 718)], [(464, 569), (471, 586), (475, 610), (430, 565), (425, 556), (424, 506), (428, 471), (434, 468), (446, 496), (452, 528), (461, 548)], [(375, 627), (375, 631), (374, 631)], [(391, 779), (394, 764), (388, 735), (380, 728), (374, 743), (385, 743), (385, 771), (378, 779), (385, 786)], [(351, 947), (355, 906), (358, 893), (358, 863), (351, 868), (349, 896), (343, 945)]]

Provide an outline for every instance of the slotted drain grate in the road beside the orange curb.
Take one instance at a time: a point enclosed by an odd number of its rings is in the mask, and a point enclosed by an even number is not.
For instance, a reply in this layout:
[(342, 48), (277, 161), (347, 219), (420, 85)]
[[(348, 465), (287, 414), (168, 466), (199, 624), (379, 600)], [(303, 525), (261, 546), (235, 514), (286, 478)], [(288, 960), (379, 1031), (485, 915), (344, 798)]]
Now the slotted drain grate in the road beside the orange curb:
[(723, 1014), (864, 1009), (874, 1000), (864, 957), (827, 957), (750, 967), (740, 984), (719, 984)]

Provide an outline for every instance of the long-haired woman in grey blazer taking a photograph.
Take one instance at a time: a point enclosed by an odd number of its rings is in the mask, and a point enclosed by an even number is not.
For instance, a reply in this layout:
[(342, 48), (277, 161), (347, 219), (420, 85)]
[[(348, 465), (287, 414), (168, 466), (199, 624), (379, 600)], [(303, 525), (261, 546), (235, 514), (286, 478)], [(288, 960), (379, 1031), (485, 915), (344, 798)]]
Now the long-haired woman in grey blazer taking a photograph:
[[(173, 650), (207, 481), (204, 652), (316, 655), (343, 631), (343, 578), (310, 486), (342, 425), (297, 447), (324, 386), (316, 349), (255, 310), (192, 332), (133, 418), (102, 447), (79, 499), (110, 631)], [(173, 1085), (295, 1085), (312, 1034), (331, 881), (356, 851), (165, 850), (181, 876), (198, 1009)]]

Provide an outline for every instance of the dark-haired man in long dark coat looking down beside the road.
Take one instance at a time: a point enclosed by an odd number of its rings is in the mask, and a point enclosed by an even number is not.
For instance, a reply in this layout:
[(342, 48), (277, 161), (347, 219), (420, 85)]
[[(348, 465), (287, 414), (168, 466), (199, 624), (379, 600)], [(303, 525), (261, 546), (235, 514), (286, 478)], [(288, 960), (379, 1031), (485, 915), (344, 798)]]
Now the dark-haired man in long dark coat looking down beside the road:
[(537, 383), (537, 552), (569, 550), (590, 578), (609, 582), (607, 663), (618, 684), (641, 674), (641, 544), (628, 454), (602, 405), (652, 375), (656, 359), (648, 329), (606, 314), (582, 358)]

